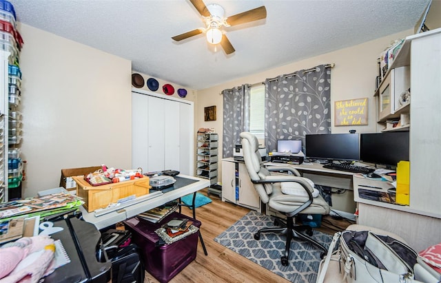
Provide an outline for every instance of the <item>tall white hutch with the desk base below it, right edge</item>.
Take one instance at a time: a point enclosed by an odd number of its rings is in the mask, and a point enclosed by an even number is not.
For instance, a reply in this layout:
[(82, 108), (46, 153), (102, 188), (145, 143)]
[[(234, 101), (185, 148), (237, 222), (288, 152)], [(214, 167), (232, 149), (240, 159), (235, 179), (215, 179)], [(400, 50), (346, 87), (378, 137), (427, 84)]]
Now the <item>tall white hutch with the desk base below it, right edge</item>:
[[(409, 66), (411, 113), (409, 130), (409, 205), (358, 198), (358, 224), (406, 236), (420, 251), (440, 242), (441, 194), (438, 167), (441, 148), (441, 28), (408, 36), (391, 68)], [(378, 95), (378, 94), (377, 94)], [(398, 130), (398, 129), (395, 129)], [(356, 179), (356, 178), (354, 178)], [(357, 188), (359, 180), (354, 180)], [(367, 185), (367, 184), (363, 184)], [(376, 184), (368, 184), (381, 187)], [(384, 185), (389, 188), (389, 184)], [(378, 221), (381, 219), (381, 221)], [(421, 235), (420, 231), (424, 231)]]

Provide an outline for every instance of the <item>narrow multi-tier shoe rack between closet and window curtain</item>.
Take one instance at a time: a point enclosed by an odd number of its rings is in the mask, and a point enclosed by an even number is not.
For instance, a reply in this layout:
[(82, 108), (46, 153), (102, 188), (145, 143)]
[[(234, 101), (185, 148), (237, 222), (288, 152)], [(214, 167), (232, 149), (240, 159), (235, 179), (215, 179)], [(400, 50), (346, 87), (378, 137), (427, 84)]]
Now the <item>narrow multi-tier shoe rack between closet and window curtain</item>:
[(196, 176), (209, 180), (210, 186), (218, 182), (218, 134), (198, 133)]

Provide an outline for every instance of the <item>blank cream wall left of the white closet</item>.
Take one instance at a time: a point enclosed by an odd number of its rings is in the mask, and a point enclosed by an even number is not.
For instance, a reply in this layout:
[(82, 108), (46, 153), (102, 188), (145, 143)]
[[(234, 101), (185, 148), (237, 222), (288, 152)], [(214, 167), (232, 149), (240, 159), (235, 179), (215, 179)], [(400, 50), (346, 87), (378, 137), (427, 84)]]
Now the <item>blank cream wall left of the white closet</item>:
[(131, 62), (30, 25), (18, 29), (23, 197), (59, 187), (62, 168), (130, 169)]

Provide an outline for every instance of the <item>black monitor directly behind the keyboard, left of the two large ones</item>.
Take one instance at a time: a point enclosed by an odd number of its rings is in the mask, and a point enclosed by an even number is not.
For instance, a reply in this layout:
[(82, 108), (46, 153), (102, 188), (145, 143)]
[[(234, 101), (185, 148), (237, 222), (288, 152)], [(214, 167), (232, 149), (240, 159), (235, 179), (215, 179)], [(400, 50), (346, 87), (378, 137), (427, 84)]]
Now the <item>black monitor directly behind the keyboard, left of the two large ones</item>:
[(305, 140), (309, 159), (360, 160), (359, 134), (309, 134)]

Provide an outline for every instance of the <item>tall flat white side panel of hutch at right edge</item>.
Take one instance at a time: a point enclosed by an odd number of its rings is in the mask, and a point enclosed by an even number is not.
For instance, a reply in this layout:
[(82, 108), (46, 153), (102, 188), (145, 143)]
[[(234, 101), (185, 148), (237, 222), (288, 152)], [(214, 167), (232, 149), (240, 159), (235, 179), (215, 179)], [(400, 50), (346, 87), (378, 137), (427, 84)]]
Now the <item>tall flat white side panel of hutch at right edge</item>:
[(410, 206), (441, 218), (441, 28), (411, 41)]

